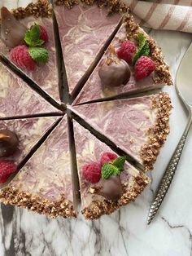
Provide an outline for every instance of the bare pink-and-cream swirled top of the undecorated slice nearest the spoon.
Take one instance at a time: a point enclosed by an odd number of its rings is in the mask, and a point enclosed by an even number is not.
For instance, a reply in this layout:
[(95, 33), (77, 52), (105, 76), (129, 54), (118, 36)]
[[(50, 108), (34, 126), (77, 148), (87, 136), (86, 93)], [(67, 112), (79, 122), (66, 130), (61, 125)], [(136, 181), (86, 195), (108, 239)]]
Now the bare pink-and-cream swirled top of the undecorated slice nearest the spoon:
[(159, 95), (77, 105), (72, 110), (142, 164), (141, 149), (157, 119), (154, 99)]

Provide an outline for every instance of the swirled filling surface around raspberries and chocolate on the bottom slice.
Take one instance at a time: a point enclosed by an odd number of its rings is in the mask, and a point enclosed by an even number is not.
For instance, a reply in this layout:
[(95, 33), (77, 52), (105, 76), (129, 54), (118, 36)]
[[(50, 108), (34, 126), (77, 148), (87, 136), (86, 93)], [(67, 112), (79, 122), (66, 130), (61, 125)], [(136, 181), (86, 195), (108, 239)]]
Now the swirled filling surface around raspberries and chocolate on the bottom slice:
[[(85, 164), (101, 161), (104, 152), (113, 152), (105, 143), (98, 140), (89, 130), (73, 121), (74, 138), (76, 142), (76, 161), (81, 187), (81, 203), (82, 208), (89, 207), (94, 201), (103, 201), (105, 197), (91, 194), (89, 188), (95, 183), (87, 182), (82, 175), (82, 168)], [(113, 152), (115, 153), (115, 152)], [(139, 176), (139, 171), (126, 161), (124, 171), (120, 174), (121, 183), (126, 184), (127, 190), (133, 188), (135, 177)], [(102, 179), (97, 183), (99, 187)]]

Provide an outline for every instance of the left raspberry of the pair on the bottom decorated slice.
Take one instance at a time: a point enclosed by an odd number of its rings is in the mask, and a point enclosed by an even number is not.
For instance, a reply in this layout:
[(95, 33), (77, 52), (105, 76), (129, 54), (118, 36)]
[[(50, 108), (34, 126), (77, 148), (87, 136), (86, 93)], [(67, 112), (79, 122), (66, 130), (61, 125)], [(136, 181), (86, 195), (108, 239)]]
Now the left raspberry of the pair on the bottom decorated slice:
[(98, 183), (101, 179), (101, 167), (96, 162), (83, 166), (83, 177), (90, 183)]

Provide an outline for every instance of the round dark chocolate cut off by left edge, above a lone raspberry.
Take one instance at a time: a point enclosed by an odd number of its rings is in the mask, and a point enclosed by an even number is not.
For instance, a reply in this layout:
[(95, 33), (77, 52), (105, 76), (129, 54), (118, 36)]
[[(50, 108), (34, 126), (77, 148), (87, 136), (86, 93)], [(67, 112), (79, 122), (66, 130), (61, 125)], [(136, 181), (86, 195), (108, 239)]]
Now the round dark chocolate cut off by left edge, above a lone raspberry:
[(12, 156), (19, 145), (17, 135), (11, 130), (0, 130), (0, 157)]

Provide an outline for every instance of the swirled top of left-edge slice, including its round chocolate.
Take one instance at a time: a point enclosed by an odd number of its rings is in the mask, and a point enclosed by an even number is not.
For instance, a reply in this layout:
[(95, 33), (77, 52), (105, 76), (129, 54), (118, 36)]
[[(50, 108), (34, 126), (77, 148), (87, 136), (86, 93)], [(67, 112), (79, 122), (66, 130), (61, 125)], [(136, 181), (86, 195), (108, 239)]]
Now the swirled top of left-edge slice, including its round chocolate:
[[(0, 121), (0, 158), (8, 158), (18, 165), (59, 118), (33, 117)], [(18, 139), (17, 146), (15, 136)]]

